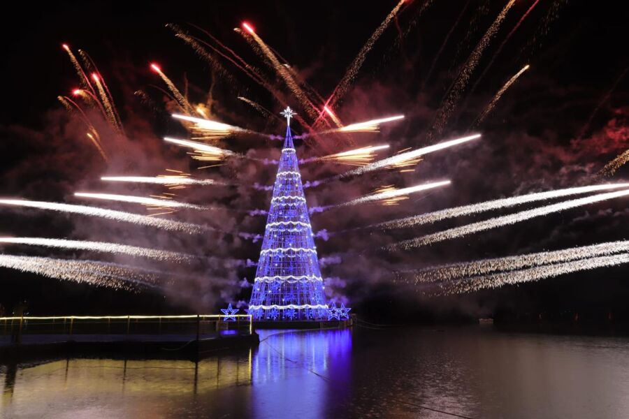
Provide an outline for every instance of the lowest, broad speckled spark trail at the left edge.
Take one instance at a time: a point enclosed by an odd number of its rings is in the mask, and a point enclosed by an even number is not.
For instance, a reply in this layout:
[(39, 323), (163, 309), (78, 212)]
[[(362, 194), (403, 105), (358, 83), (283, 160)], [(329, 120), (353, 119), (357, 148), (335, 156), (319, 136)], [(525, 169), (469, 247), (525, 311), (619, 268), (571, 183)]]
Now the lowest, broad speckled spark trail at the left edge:
[(41, 258), (36, 256), (0, 255), (0, 266), (21, 272), (31, 272), (54, 279), (64, 279), (77, 283), (87, 283), (95, 286), (131, 291), (137, 285), (154, 287), (147, 276), (133, 274), (130, 270), (87, 260), (64, 260)]

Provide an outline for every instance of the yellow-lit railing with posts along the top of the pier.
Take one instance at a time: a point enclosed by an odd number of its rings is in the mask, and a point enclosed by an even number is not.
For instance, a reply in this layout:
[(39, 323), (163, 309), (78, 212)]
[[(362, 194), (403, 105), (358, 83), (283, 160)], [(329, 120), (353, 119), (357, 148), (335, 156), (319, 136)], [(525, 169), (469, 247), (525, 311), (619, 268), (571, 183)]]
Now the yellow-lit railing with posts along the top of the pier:
[(198, 340), (252, 332), (250, 314), (0, 317), (0, 333), (10, 335), (13, 343), (23, 335), (188, 335)]

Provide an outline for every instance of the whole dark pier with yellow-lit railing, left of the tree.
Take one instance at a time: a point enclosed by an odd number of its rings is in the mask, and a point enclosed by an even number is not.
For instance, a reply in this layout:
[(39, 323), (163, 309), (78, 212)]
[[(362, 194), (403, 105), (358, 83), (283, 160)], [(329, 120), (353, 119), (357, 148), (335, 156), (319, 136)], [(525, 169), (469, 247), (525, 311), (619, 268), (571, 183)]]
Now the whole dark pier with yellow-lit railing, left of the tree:
[(248, 314), (23, 316), (0, 318), (0, 360), (124, 355), (185, 358), (256, 346)]

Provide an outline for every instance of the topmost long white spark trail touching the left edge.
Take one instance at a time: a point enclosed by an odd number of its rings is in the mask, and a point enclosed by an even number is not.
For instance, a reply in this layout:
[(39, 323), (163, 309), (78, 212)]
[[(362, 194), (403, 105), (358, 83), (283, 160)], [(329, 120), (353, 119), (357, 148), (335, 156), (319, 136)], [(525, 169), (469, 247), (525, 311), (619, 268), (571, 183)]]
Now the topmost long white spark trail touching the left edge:
[(52, 210), (57, 212), (66, 212), (70, 214), (82, 214), (87, 216), (98, 216), (113, 221), (124, 221), (125, 223), (138, 224), (139, 226), (150, 226), (162, 228), (164, 230), (180, 231), (182, 233), (194, 234), (205, 233), (208, 230), (214, 230), (209, 226), (200, 226), (193, 223), (183, 223), (181, 221), (171, 221), (166, 219), (154, 218), (140, 214), (132, 214), (130, 212), (106, 210), (103, 208), (87, 207), (85, 205), (71, 205), (61, 203), (48, 203), (43, 201), (31, 201), (20, 199), (0, 199), (0, 205), (15, 205), (17, 207), (38, 208), (40, 210)]

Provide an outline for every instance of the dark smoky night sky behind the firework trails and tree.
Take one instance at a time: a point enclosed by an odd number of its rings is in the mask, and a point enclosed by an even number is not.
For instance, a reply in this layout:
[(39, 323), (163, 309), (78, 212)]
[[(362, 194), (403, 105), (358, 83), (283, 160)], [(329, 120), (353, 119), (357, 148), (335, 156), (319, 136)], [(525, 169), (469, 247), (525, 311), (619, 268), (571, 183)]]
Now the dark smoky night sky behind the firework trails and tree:
[[(403, 187), (450, 179), (451, 186), (411, 196), (396, 207), (361, 205), (314, 214), (315, 232), (340, 231), (524, 193), (629, 179), (628, 167), (611, 179), (595, 179), (608, 161), (629, 148), (629, 56), (625, 45), (629, 16), (622, 2), (539, 1), (479, 80), (499, 45), (535, 3), (517, 1), (484, 50), (447, 125), (441, 133), (431, 129), (447, 89), (505, 3), (414, 0), (400, 10), (368, 53), (335, 111), (346, 124), (397, 114), (404, 114), (405, 119), (383, 126), (380, 133), (352, 135), (356, 145), (389, 143), (389, 154), (393, 154), (464, 135), (498, 89), (525, 64), (531, 67), (484, 122), (472, 128), (472, 132), (483, 134), (482, 140), (427, 155), (414, 172), (374, 172), (307, 189), (306, 197), (312, 207), (342, 203), (389, 184)], [(184, 150), (165, 145), (163, 136), (185, 138), (188, 134), (169, 117), (174, 105), (160, 90), (166, 86), (150, 71), (149, 64), (159, 63), (180, 89), (187, 84), (189, 100), (210, 104), (212, 117), (221, 122), (282, 134), (279, 121), (263, 117), (237, 96), (251, 98), (276, 114), (281, 105), (228, 61), (219, 59), (229, 75), (212, 71), (165, 25), (178, 24), (199, 36), (204, 35), (191, 25), (210, 31), (259, 68), (288, 98), (291, 107), (305, 115), (281, 80), (233, 28), (245, 20), (251, 22), (256, 33), (280, 52), (301, 78), (327, 97), (396, 3), (59, 1), (36, 7), (28, 3), (13, 6), (16, 10), (6, 15), (0, 28), (6, 40), (0, 62), (4, 99), (0, 107), (0, 196), (144, 213), (138, 205), (90, 203), (78, 200), (73, 193), (108, 191), (147, 196), (161, 189), (104, 184), (99, 177), (154, 176), (174, 168), (198, 177), (230, 180), (237, 186), (182, 191), (178, 200), (220, 205), (225, 210), (211, 214), (182, 211), (168, 218), (208, 223), (233, 232), (262, 233), (264, 217), (238, 210), (268, 208), (269, 194), (250, 185), (271, 184), (275, 167), (233, 159), (219, 168), (197, 170), (201, 165), (189, 159)], [(210, 41), (207, 36), (203, 39)], [(109, 163), (104, 163), (85, 140), (82, 123), (57, 101), (58, 95), (69, 95), (78, 87), (62, 43), (89, 52), (122, 115), (126, 139), (108, 135), (105, 124), (95, 123), (102, 128)], [(138, 89), (150, 102), (133, 94)], [(294, 126), (296, 133), (303, 129)], [(298, 153), (308, 157), (340, 152), (347, 149), (343, 141), (330, 136), (321, 142), (299, 142)], [(229, 138), (218, 145), (259, 159), (277, 159), (280, 147), (278, 142), (253, 136)], [(320, 179), (349, 168), (311, 163), (302, 166), (302, 179)], [(413, 288), (393, 283), (391, 272), (625, 240), (628, 202), (619, 198), (392, 254), (377, 248), (528, 207), (386, 233), (344, 233), (319, 240), (317, 246), (319, 258), (345, 254), (342, 263), (323, 268), (324, 277), (331, 278), (328, 288), (335, 292), (331, 297), (347, 301), (356, 312), (370, 318), (537, 318), (539, 314), (573, 318), (576, 313), (591, 319), (608, 318), (609, 313), (627, 318), (626, 265), (438, 298), (422, 297)], [(223, 259), (256, 260), (260, 247), (260, 242), (235, 234), (177, 235), (86, 216), (10, 207), (0, 207), (0, 234), (119, 242)], [(7, 246), (2, 253), (107, 260), (174, 273), (171, 281), (176, 284), (170, 284), (165, 292), (131, 293), (1, 269), (0, 304), (10, 309), (17, 300), (26, 299), (31, 314), (215, 311), (226, 302), (248, 301), (250, 288), (241, 280), (246, 277), (252, 281), (255, 269), (233, 269), (215, 259), (191, 266), (167, 265), (36, 247)]]

